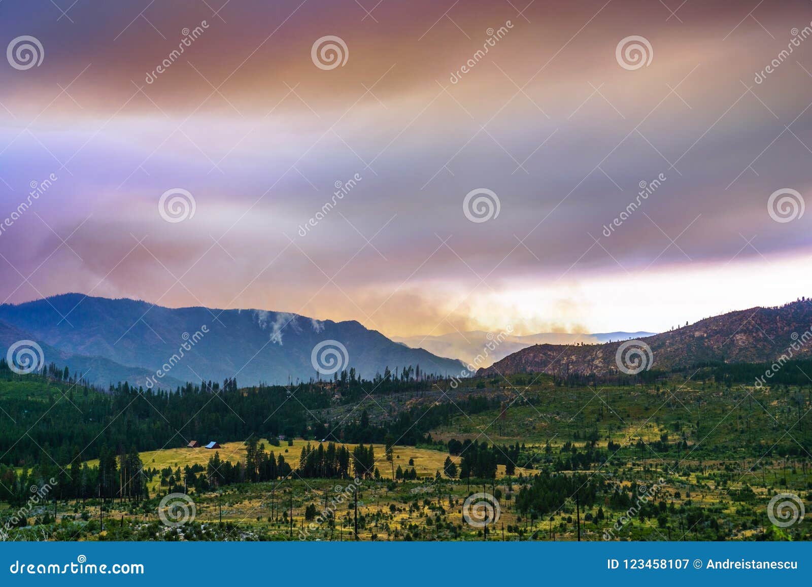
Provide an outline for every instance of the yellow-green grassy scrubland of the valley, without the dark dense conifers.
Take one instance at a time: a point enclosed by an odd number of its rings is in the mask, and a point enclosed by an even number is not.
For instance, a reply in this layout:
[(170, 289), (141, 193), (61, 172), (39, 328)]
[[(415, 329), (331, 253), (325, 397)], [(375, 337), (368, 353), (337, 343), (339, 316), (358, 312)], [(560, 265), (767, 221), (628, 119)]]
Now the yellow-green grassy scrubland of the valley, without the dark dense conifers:
[[(767, 507), (774, 496), (792, 494), (812, 511), (810, 391), (720, 385), (702, 374), (604, 386), (564, 385), (547, 376), (474, 380), (455, 391), (452, 403), (482, 397), (490, 404), (452, 410), (427, 430), (420, 446), (395, 446), (395, 468), (413, 466), (417, 479), (393, 481), (384, 445), (373, 445), (380, 477), (358, 488), (357, 539), (598, 541), (611, 531), (612, 540), (807, 540), (812, 516), (781, 528), (771, 523)], [(404, 394), (391, 402), (417, 405), (422, 413), (447, 393)], [(370, 416), (378, 418), (371, 405)], [(218, 440), (217, 451), (173, 447), (140, 451), (140, 460), (146, 469), (173, 472), (196, 464), (205, 469), (215, 452), (221, 460), (244, 462), (244, 439)], [(485, 442), (493, 451), (515, 443), (516, 470), (508, 476), (499, 464), (493, 479), (438, 477), (448, 456), (458, 467), (465, 456), (450, 455), (450, 440)], [(293, 472), (275, 481), (190, 488), (193, 520), (178, 528), (159, 520), (158, 503), (170, 488), (155, 475), (149, 499), (103, 505), (98, 499), (60, 500), (55, 520), (48, 513), (53, 505), (34, 508), (28, 526), (15, 532), (33, 539), (46, 528), (60, 540), (355, 539), (352, 480), (296, 473), (308, 442), (318, 444), (313, 437), (279, 447), (260, 440)], [(345, 446), (352, 451), (357, 445)], [(537, 476), (583, 482), (576, 490), (546, 490), (537, 486)], [(582, 503), (578, 485), (586, 487)], [(641, 487), (654, 486), (656, 493), (641, 506)], [(463, 516), (465, 499), (481, 492), (499, 503), (487, 537)], [(326, 520), (323, 511), (330, 513)]]

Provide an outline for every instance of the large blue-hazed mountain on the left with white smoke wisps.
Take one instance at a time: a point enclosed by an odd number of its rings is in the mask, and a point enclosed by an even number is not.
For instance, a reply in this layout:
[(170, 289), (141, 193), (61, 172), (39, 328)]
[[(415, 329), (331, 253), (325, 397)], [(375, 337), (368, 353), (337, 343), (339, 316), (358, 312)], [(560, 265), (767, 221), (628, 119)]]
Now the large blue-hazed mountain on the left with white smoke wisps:
[[(67, 365), (71, 373), (87, 372), (85, 377), (101, 386), (119, 381), (145, 385), (149, 377), (165, 389), (179, 382), (231, 377), (240, 385), (287, 383), (288, 377), (307, 381), (317, 376), (314, 347), (329, 340), (346, 348), (346, 362), (340, 348), (335, 358), (365, 378), (387, 366), (420, 365), (422, 372), (443, 375), (463, 368), (458, 360), (395, 343), (354, 321), (254, 309), (169, 309), (81, 294), (0, 305), (2, 356), (22, 339), (39, 343), (46, 363)], [(173, 360), (184, 345), (183, 357)], [(322, 347), (317, 356), (329, 353), (330, 347)], [(317, 360), (317, 365), (325, 378), (333, 364)], [(162, 378), (154, 378), (158, 369), (166, 371)]]

